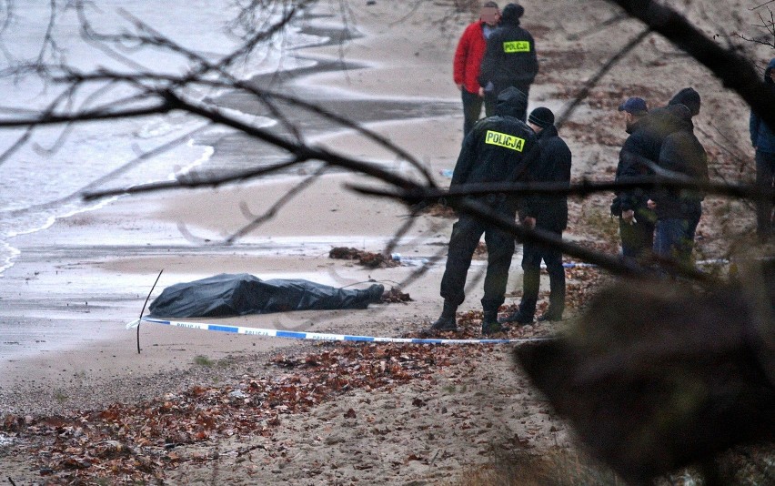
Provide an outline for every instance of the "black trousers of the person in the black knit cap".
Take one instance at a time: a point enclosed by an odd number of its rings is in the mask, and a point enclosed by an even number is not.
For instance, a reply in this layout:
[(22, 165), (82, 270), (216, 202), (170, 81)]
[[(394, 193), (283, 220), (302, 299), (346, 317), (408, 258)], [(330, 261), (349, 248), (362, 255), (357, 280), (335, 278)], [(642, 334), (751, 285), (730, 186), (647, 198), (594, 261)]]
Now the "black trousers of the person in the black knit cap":
[[(547, 231), (547, 229), (544, 229)], [(562, 231), (551, 231), (562, 238)], [(536, 313), (538, 289), (541, 278), (541, 260), (547, 264), (549, 272), (549, 312), (561, 316), (565, 310), (565, 268), (562, 267), (562, 252), (554, 248), (545, 248), (535, 243), (522, 245), (522, 301), (519, 312), (528, 317)]]

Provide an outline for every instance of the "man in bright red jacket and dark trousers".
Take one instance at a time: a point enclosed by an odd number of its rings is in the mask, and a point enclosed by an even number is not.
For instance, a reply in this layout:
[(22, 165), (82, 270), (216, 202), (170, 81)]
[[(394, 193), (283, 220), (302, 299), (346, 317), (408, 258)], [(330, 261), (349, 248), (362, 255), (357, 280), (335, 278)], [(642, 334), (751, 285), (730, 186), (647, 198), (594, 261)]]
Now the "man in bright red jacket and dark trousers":
[[(468, 25), (455, 50), (453, 76), (463, 96), (463, 137), (468, 135), (482, 112), (482, 96), (479, 96), (479, 66), (482, 63), (487, 38), (498, 26), (500, 11), (495, 2), (485, 2), (479, 20)], [(486, 113), (491, 116), (492, 113)]]

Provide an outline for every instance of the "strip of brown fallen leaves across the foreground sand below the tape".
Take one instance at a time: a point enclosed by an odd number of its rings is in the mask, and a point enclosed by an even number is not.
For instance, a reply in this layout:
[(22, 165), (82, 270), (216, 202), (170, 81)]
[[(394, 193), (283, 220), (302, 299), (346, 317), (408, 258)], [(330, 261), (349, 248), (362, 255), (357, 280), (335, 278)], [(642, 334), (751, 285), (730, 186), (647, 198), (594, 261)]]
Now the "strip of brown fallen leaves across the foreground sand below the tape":
[[(348, 390), (392, 389), (427, 380), (468, 349), (452, 346), (337, 343), (316, 353), (272, 359), (278, 373), (223, 387), (196, 386), (139, 404), (65, 416), (8, 415), (0, 431), (35, 458), (49, 482), (161, 482), (186, 457), (176, 447), (227, 437), (271, 437), (283, 415), (300, 413)], [(267, 451), (270, 454), (272, 451)], [(277, 452), (277, 451), (274, 451)]]

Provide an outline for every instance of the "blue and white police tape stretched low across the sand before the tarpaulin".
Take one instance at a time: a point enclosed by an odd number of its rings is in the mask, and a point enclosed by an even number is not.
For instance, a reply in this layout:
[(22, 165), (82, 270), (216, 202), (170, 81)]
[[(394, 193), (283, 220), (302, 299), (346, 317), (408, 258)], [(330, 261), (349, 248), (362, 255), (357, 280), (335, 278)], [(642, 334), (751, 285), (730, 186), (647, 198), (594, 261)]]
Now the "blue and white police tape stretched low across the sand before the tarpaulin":
[(419, 339), (419, 338), (378, 338), (374, 336), (350, 336), (348, 334), (324, 334), (321, 332), (304, 332), (295, 330), (246, 328), (243, 326), (229, 326), (225, 324), (208, 324), (206, 322), (185, 322), (179, 320), (165, 320), (154, 318), (136, 319), (126, 324), (126, 329), (133, 329), (140, 322), (175, 326), (176, 328), (217, 330), (234, 334), (246, 334), (247, 336), (266, 336), (270, 338), (311, 339), (317, 341), (359, 341), (359, 342), (394, 342), (409, 344), (514, 344), (531, 341), (549, 340), (549, 338), (533, 339)]

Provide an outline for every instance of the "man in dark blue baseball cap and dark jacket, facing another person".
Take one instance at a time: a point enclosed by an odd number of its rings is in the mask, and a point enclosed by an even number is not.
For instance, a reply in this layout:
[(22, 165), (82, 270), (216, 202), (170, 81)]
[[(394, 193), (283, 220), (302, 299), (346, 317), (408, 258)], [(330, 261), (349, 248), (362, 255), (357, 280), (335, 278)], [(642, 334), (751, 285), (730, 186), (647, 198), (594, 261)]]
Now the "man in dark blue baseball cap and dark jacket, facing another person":
[[(653, 176), (654, 171), (645, 160), (656, 163), (661, 146), (658, 133), (649, 124), (649, 107), (643, 98), (629, 97), (619, 105), (625, 114), (625, 129), (629, 136), (619, 151), (616, 182), (637, 177)], [(649, 209), (648, 191), (637, 187), (619, 190), (611, 203), (611, 214), (619, 217), (619, 237), (624, 258), (646, 257), (654, 246), (654, 224), (657, 217)]]

